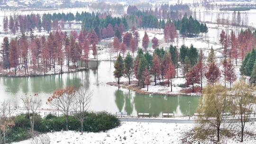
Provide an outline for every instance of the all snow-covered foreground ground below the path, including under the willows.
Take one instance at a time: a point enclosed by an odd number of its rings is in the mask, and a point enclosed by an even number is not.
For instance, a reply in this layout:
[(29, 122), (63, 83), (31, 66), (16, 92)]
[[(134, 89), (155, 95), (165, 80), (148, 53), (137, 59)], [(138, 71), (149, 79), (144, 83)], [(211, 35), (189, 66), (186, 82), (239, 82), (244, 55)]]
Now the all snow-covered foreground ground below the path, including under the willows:
[[(121, 126), (106, 132), (81, 135), (80, 132), (61, 131), (46, 135), (50, 139), (50, 144), (213, 144), (210, 139), (195, 140), (192, 136), (185, 135), (195, 126), (195, 124), (122, 122)], [(233, 130), (238, 130), (237, 128), (233, 128)], [(255, 133), (255, 128), (255, 123), (248, 123), (245, 130)], [(239, 138), (239, 135), (224, 136), (221, 137), (219, 144), (256, 143), (253, 135), (246, 134), (243, 143), (238, 141)], [(13, 144), (30, 143), (31, 140), (29, 139)]]

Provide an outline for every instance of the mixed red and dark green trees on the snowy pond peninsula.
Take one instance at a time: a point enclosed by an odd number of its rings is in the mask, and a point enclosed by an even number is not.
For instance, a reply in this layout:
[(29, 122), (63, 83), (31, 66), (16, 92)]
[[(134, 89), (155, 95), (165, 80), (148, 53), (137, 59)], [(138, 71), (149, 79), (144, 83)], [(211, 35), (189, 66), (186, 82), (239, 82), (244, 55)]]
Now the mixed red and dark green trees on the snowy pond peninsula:
[(159, 82), (161, 82), (161, 79), (162, 81), (166, 80), (168, 86), (171, 84), (172, 90), (172, 79), (175, 78), (176, 74), (178, 77), (178, 68), (181, 67), (187, 86), (191, 85), (192, 92), (194, 92), (194, 84), (201, 84), (202, 90), (204, 78), (208, 80), (208, 83), (214, 85), (219, 82), (221, 74), (224, 77), (225, 87), (226, 82), (229, 82), (231, 87), (231, 84), (236, 80), (233, 64), (230, 59), (224, 59), (222, 66), (223, 70), (220, 71), (212, 48), (207, 63), (205, 63), (202, 51), (198, 54), (193, 45), (190, 48), (183, 45), (180, 52), (175, 46), (171, 45), (169, 52), (166, 52), (163, 48), (156, 48), (153, 56), (147, 51), (143, 53), (142, 49), (138, 49), (135, 60), (128, 54), (123, 61), (119, 55), (115, 63), (114, 75), (118, 78), (118, 84), (122, 76), (127, 77), (130, 84), (130, 77), (135, 75), (138, 85), (142, 84), (143, 87), (150, 85), (153, 76), (155, 85), (156, 80), (159, 80)]

